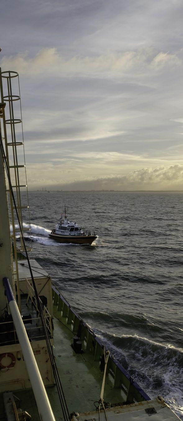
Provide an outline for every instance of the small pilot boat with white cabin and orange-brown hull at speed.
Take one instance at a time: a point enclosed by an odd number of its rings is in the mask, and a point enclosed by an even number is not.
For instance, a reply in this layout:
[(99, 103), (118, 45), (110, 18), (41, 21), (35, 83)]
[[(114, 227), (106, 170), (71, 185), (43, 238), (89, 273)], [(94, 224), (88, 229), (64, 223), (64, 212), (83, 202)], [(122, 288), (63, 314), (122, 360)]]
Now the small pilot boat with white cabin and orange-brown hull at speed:
[(66, 208), (64, 207), (64, 215), (61, 215), (59, 223), (55, 229), (52, 230), (49, 237), (59, 242), (66, 242), (72, 244), (92, 244), (96, 240), (97, 235), (95, 232), (92, 234), (90, 231), (83, 231), (82, 227), (77, 225), (76, 222), (71, 222), (67, 218)]

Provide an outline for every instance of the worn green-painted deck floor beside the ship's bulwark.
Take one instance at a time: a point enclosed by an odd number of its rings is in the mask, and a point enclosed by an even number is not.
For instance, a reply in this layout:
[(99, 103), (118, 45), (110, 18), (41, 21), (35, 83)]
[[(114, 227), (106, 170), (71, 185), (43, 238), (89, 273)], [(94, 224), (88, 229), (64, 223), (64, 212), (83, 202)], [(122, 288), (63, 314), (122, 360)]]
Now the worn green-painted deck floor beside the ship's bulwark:
[[(59, 332), (62, 329), (62, 336)], [(75, 354), (71, 347), (73, 333), (57, 319), (54, 319), (54, 355), (64, 388), (70, 412), (94, 410), (95, 401), (101, 394), (103, 373), (99, 361), (93, 361), (93, 354)], [(60, 355), (60, 357), (59, 357)], [(106, 376), (104, 400), (121, 402), (121, 389), (114, 389), (113, 382)]]

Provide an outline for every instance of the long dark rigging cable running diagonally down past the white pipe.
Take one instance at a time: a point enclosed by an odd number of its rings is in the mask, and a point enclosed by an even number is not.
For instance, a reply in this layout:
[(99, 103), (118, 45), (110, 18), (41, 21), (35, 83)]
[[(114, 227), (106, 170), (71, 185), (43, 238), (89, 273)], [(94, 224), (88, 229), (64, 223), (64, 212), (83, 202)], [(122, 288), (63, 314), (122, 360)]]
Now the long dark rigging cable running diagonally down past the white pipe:
[(43, 326), (43, 330), (44, 330), (46, 345), (47, 345), (47, 348), (48, 348), (49, 357), (50, 357), (50, 361), (51, 361), (51, 365), (52, 365), (52, 369), (53, 369), (53, 373), (54, 373), (54, 378), (55, 378), (55, 383), (56, 383), (56, 386), (57, 386), (57, 391), (58, 391), (59, 400), (60, 400), (60, 404), (61, 404), (61, 408), (62, 408), (62, 413), (63, 413), (63, 416), (64, 416), (64, 420), (68, 421), (68, 420), (70, 420), (70, 413), (69, 413), (69, 410), (68, 410), (68, 407), (67, 407), (67, 402), (66, 402), (66, 399), (65, 399), (65, 396), (64, 396), (62, 383), (61, 383), (61, 380), (60, 380), (60, 377), (59, 377), (58, 368), (57, 368), (57, 365), (56, 365), (56, 362), (55, 362), (55, 357), (54, 357), (52, 345), (51, 345), (50, 338), (49, 338), (48, 328), (47, 328), (47, 325), (46, 325), (45, 320), (44, 320), (44, 314), (43, 314), (42, 306), (41, 306), (41, 303), (40, 303), (40, 300), (39, 300), (39, 295), (38, 295), (38, 292), (37, 292), (36, 283), (35, 283), (34, 276), (33, 276), (33, 273), (32, 273), (31, 264), (30, 264), (30, 261), (29, 261), (29, 258), (28, 258), (26, 244), (25, 244), (25, 240), (24, 240), (24, 237), (23, 237), (23, 232), (22, 232), (22, 229), (21, 229), (21, 224), (20, 224), (20, 220), (19, 220), (19, 216), (18, 216), (18, 210), (17, 210), (16, 203), (15, 203), (15, 197), (14, 197), (14, 193), (13, 193), (13, 187), (12, 187), (12, 184), (11, 184), (10, 173), (9, 173), (8, 164), (7, 164), (7, 160), (6, 160), (5, 150), (4, 150), (4, 147), (3, 147), (3, 140), (2, 140), (1, 133), (0, 133), (0, 149), (1, 149), (1, 152), (2, 152), (5, 170), (6, 170), (6, 173), (7, 173), (7, 176), (8, 176), (10, 192), (11, 192), (11, 195), (12, 195), (12, 198), (13, 198), (13, 203), (14, 203), (14, 206), (15, 206), (15, 212), (16, 212), (18, 224), (19, 224), (19, 227), (20, 227), (20, 232), (21, 232), (21, 236), (22, 236), (22, 240), (23, 240), (23, 246), (24, 246), (24, 249), (25, 249), (26, 258), (27, 258), (27, 261), (28, 261), (28, 267), (29, 267), (30, 274), (31, 274), (31, 280), (32, 280), (33, 287), (34, 287), (35, 297), (36, 297), (36, 301), (37, 301), (37, 307), (38, 307), (38, 310), (39, 310), (39, 314), (40, 314), (40, 318), (41, 318), (41, 322), (42, 322), (42, 326)]

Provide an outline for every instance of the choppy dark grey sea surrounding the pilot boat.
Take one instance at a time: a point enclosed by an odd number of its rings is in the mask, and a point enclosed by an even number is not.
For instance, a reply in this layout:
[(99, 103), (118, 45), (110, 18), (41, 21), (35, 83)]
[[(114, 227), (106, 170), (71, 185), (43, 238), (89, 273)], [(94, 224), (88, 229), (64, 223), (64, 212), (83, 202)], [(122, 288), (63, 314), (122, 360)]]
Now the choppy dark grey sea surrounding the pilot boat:
[[(49, 238), (64, 205), (95, 230), (92, 245)], [(30, 192), (29, 209), (30, 258), (144, 391), (183, 420), (183, 192)]]

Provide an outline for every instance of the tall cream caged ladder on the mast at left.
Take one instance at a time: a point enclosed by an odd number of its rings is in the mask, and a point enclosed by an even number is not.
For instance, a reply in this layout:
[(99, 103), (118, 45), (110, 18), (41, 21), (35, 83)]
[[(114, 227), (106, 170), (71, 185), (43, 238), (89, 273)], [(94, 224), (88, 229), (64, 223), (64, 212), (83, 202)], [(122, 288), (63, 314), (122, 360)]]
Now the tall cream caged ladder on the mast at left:
[[(14, 95), (13, 90), (16, 84), (18, 87), (18, 95)], [(13, 86), (12, 86), (13, 85)], [(10, 173), (11, 184), (13, 185), (14, 196), (16, 200), (16, 207), (18, 210), (18, 216), (21, 224), (22, 231), (28, 231), (31, 233), (30, 226), (30, 215), (29, 215), (29, 205), (28, 205), (28, 191), (27, 191), (27, 176), (26, 176), (26, 165), (25, 165), (25, 154), (24, 154), (24, 140), (23, 140), (23, 125), (22, 125), (22, 112), (21, 112), (21, 96), (20, 96), (20, 85), (19, 77), (17, 72), (1, 72), (0, 69), (0, 97), (1, 102), (4, 104), (4, 107), (1, 109), (0, 117), (3, 120), (3, 143), (5, 147), (5, 155), (8, 165), (8, 171)], [(5, 104), (6, 106), (6, 116), (5, 116)], [(19, 116), (21, 118), (15, 118)], [(18, 126), (18, 125), (21, 125)], [(23, 190), (26, 195), (27, 204), (21, 203)], [(12, 223), (12, 234), (14, 245), (14, 255), (15, 255), (15, 268), (14, 268), (14, 278), (17, 284), (17, 294), (18, 294), (18, 306), (21, 311), (21, 299), (20, 299), (20, 288), (19, 288), (19, 277), (18, 277), (18, 251), (24, 252), (23, 240), (20, 232), (20, 237), (17, 236), (17, 232), (20, 231), (17, 228), (17, 216), (15, 214), (15, 207), (13, 205), (13, 199), (10, 192), (10, 186), (7, 189), (9, 193), (10, 200), (10, 210), (11, 210), (11, 223)], [(24, 195), (24, 196), (25, 196)], [(25, 197), (23, 197), (25, 200)], [(28, 210), (28, 213), (25, 213)], [(26, 223), (28, 222), (28, 228), (23, 226), (23, 218), (26, 218)], [(31, 235), (30, 235), (31, 239)], [(28, 251), (31, 251), (32, 248), (27, 248)]]

